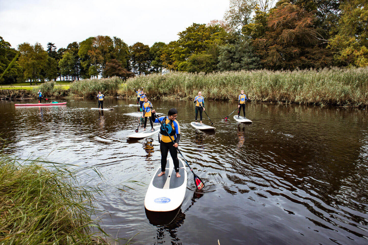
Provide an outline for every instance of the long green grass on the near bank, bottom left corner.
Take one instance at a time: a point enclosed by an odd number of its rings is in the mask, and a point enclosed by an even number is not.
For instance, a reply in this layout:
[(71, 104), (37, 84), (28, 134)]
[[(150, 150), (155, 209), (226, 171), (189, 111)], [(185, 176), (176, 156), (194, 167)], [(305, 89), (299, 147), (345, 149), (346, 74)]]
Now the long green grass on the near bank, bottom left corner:
[[(93, 191), (65, 167), (0, 157), (0, 244), (106, 244), (91, 230)], [(97, 240), (97, 241), (96, 241)]]

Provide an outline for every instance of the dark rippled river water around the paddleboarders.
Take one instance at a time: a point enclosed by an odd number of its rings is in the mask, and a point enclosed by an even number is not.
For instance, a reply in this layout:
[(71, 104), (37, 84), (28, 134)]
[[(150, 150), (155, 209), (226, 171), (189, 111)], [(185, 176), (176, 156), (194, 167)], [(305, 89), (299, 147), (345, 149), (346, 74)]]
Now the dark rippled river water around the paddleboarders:
[(146, 215), (147, 186), (124, 182), (148, 184), (160, 163), (157, 136), (127, 140), (138, 123), (124, 115), (137, 110), (133, 103), (107, 99), (114, 111), (103, 113), (89, 110), (93, 100), (52, 108), (0, 103), (5, 151), (78, 165), (82, 183), (107, 188), (96, 196), (109, 212), (103, 229), (135, 235), (138, 244), (368, 244), (365, 110), (247, 104), (253, 123), (239, 124), (222, 120), (235, 102), (208, 101), (216, 131), (205, 133), (190, 126), (192, 102), (153, 101), (159, 112), (178, 109), (180, 148), (207, 184), (198, 193), (188, 176), (183, 205), (162, 224)]

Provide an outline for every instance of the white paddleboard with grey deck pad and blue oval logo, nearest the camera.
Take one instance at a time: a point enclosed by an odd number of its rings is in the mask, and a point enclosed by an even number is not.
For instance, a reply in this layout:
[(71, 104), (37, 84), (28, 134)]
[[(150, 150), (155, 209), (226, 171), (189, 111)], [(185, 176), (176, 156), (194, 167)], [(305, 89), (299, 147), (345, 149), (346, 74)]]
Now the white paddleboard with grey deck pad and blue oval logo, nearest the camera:
[(187, 171), (183, 160), (179, 159), (179, 174), (176, 177), (173, 159), (167, 158), (165, 174), (158, 177), (161, 173), (161, 166), (155, 172), (151, 183), (148, 186), (144, 206), (147, 210), (155, 212), (167, 212), (177, 209), (184, 200), (185, 190), (187, 189)]

